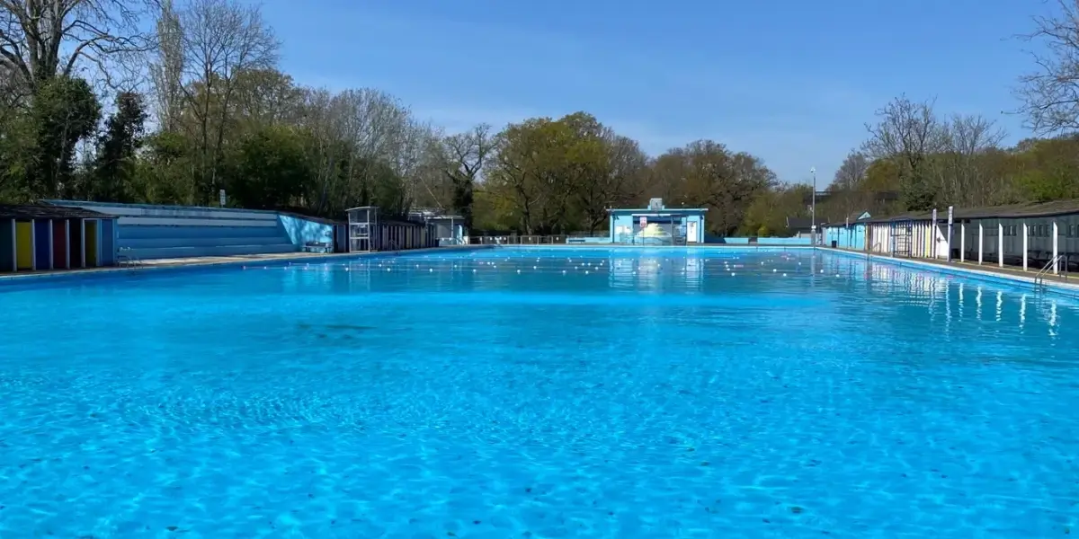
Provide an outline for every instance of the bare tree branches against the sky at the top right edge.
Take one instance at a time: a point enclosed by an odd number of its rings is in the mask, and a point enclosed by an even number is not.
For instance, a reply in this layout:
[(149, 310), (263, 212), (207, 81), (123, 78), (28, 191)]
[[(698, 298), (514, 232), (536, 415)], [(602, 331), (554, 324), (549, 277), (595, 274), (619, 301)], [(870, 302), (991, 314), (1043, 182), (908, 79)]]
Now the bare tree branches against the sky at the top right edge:
[(1034, 17), (1034, 31), (1022, 37), (1042, 51), (1030, 53), (1038, 68), (1020, 78), (1015, 92), (1039, 135), (1079, 129), (1079, 0), (1055, 2), (1060, 12)]

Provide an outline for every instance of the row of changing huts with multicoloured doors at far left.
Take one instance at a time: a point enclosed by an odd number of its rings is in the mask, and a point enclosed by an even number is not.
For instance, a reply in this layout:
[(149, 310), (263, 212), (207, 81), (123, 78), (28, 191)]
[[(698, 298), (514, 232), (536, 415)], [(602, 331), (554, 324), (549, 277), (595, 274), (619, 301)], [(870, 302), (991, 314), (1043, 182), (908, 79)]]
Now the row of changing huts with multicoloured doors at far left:
[(117, 217), (46, 204), (0, 204), (0, 273), (117, 265)]

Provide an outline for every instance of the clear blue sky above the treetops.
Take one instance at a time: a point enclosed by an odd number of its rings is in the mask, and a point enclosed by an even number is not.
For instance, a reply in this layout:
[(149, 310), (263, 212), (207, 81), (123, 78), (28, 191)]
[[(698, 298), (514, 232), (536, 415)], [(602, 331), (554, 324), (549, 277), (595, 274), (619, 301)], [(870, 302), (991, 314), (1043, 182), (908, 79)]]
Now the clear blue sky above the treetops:
[(658, 154), (710, 138), (821, 184), (905, 93), (1026, 136), (1017, 0), (270, 0), (297, 82), (378, 87), (450, 130), (584, 110)]

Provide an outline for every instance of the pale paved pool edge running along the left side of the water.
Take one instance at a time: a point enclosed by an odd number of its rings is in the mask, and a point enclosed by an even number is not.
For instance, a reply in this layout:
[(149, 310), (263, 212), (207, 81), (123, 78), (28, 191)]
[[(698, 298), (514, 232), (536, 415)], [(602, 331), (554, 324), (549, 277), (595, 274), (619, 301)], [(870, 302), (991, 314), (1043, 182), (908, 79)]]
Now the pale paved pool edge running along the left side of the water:
[(400, 251), (330, 252), (330, 253), (297, 252), (296, 255), (284, 255), (274, 258), (205, 260), (205, 261), (179, 262), (175, 264), (164, 262), (167, 261), (168, 259), (159, 259), (158, 261), (155, 261), (156, 263), (152, 264), (94, 267), (85, 270), (67, 270), (60, 272), (24, 273), (22, 275), (17, 273), (4, 274), (0, 275), (0, 290), (3, 290), (5, 287), (9, 286), (28, 285), (33, 282), (93, 280), (100, 278), (124, 277), (132, 275), (160, 274), (166, 272), (179, 273), (179, 272), (194, 272), (203, 270), (217, 270), (230, 266), (243, 267), (248, 265), (258, 265), (260, 267), (265, 267), (265, 266), (289, 265), (297, 262), (326, 262), (328, 260), (347, 260), (347, 259), (399, 257), (399, 255), (407, 257), (411, 254), (422, 254), (432, 252), (483, 250), (483, 249), (489, 249), (492, 246), (469, 245), (469, 246), (451, 246), (451, 247), (431, 247), (426, 249), (408, 249)]

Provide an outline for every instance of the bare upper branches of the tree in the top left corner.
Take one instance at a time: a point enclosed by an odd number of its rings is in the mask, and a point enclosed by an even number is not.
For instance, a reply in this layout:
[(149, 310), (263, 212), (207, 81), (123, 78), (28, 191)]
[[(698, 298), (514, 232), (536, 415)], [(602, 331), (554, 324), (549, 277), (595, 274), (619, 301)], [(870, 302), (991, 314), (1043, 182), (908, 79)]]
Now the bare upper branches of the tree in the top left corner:
[(0, 67), (32, 92), (88, 63), (109, 79), (109, 63), (152, 49), (139, 28), (149, 2), (0, 0)]

